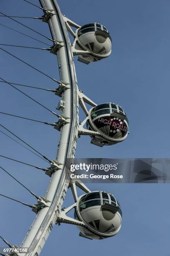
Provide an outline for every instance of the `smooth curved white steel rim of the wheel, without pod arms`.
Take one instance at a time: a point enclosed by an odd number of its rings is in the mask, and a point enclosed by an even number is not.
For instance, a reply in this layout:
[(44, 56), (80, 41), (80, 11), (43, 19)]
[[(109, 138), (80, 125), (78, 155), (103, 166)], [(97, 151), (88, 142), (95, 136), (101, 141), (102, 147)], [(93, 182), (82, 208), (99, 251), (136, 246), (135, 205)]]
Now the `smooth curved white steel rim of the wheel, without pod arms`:
[(57, 59), (60, 80), (68, 84), (67, 90), (61, 94), (65, 101), (62, 118), (67, 118), (67, 122), (60, 128), (60, 141), (56, 158), (61, 163), (60, 169), (52, 174), (45, 195), (50, 202), (47, 203), (48, 207), (44, 207), (38, 212), (21, 245), (21, 247), (29, 248), (28, 252), (23, 254), (26, 256), (40, 254), (61, 211), (69, 186), (69, 181), (65, 179), (65, 161), (66, 158), (74, 158), (75, 156), (79, 126), (77, 79), (65, 22), (55, 0), (40, 0), (40, 3), (44, 9), (52, 9), (50, 11), (55, 14), (48, 21), (53, 40), (63, 42), (63, 46), (57, 50)]

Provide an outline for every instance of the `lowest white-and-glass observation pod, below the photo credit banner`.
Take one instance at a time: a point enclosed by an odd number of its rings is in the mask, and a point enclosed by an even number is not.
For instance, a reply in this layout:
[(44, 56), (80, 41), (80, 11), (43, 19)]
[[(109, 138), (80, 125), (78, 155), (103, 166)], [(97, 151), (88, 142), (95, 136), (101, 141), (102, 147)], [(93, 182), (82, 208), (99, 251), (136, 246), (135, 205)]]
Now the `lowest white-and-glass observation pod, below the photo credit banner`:
[(122, 210), (113, 195), (96, 191), (82, 195), (78, 199), (75, 217), (87, 227), (77, 226), (80, 236), (104, 239), (115, 236), (119, 232)]

